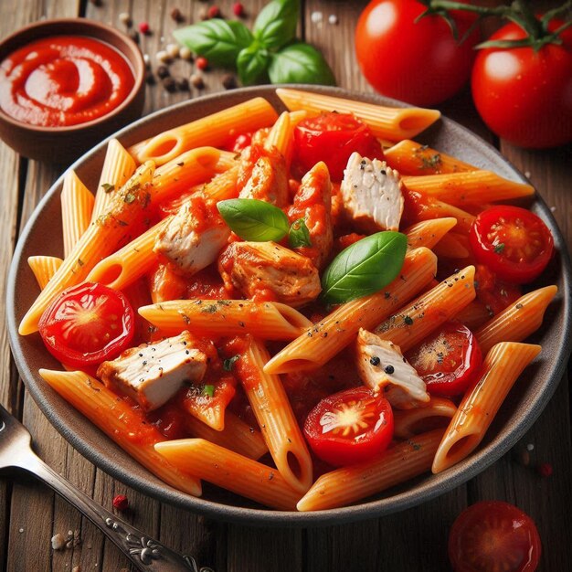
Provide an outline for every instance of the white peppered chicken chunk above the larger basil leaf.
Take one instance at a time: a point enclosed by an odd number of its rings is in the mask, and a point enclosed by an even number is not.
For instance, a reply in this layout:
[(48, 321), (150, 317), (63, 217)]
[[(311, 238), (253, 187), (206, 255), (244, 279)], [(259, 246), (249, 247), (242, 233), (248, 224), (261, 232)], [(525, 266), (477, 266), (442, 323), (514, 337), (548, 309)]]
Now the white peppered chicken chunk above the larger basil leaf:
[(385, 161), (351, 154), (340, 186), (344, 210), (367, 233), (398, 230), (404, 199), (401, 178)]

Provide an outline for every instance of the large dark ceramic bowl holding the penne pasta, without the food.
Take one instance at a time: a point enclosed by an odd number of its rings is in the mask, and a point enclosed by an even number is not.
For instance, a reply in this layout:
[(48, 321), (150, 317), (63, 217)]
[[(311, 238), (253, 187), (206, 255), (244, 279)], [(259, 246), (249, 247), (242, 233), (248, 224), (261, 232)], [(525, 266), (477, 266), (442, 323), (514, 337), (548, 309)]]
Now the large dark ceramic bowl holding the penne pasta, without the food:
[[(397, 101), (374, 95), (360, 95), (333, 88), (307, 87), (307, 89), (354, 98), (358, 101), (403, 106)], [(130, 145), (156, 132), (189, 122), (207, 113), (219, 111), (254, 96), (265, 97), (277, 109), (283, 109), (271, 87), (236, 90), (199, 100), (185, 101), (169, 109), (158, 111), (133, 123), (116, 136), (124, 145)], [(418, 140), (422, 143), (429, 143), (432, 147), (455, 155), (468, 163), (491, 169), (506, 178), (524, 181), (523, 175), (520, 175), (493, 147), (446, 118), (419, 136)], [(106, 143), (102, 142), (72, 165), (79, 177), (91, 188), (94, 188), (99, 180), (105, 145)], [(536, 196), (532, 210), (545, 220), (556, 243), (556, 257), (546, 270), (542, 283), (556, 283), (558, 294), (546, 312), (544, 325), (534, 336), (531, 336), (532, 342), (542, 344), (541, 355), (527, 368), (526, 374), (518, 379), (514, 390), (510, 392), (494, 419), (485, 440), (469, 458), (448, 471), (443, 471), (438, 475), (423, 475), (416, 480), (365, 499), (362, 503), (316, 513), (287, 513), (263, 509), (255, 503), (208, 485), (205, 486), (203, 498), (194, 498), (180, 493), (156, 479), (149, 471), (129, 458), (99, 429), (91, 425), (90, 421), (83, 418), (48, 387), (37, 375), (37, 369), (39, 367), (59, 369), (60, 365), (45, 350), (39, 335), (20, 337), (17, 334), (17, 324), (37, 296), (37, 284), (26, 264), (27, 257), (40, 253), (61, 256), (62, 253), (61, 233), (59, 232), (61, 218), (59, 192), (62, 179), (63, 177), (60, 177), (52, 186), (28, 221), (17, 244), (10, 270), (7, 312), (10, 342), (16, 365), (28, 391), (65, 439), (102, 470), (164, 502), (214, 518), (277, 526), (341, 524), (401, 511), (450, 491), (499, 459), (534, 423), (563, 376), (570, 351), (570, 262), (565, 242), (549, 208), (539, 196)]]

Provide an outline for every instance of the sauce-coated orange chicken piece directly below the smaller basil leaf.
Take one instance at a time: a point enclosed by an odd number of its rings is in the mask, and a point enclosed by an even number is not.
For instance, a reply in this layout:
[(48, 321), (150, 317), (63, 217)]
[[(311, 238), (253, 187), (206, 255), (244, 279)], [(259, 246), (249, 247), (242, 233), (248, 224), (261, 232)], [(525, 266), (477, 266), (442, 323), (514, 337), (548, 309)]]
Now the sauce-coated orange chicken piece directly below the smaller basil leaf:
[(311, 302), (322, 290), (312, 261), (275, 242), (233, 242), (220, 255), (218, 270), (226, 286), (247, 298), (294, 308)]

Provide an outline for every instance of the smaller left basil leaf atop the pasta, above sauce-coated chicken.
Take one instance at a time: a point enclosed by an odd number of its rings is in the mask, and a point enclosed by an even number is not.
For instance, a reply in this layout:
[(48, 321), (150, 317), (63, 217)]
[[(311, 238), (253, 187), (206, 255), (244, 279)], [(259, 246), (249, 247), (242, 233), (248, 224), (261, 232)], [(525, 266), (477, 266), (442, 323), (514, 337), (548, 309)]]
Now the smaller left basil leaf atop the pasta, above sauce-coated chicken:
[(230, 198), (217, 203), (220, 216), (243, 240), (281, 240), (288, 232), (288, 217), (279, 207), (255, 198)]

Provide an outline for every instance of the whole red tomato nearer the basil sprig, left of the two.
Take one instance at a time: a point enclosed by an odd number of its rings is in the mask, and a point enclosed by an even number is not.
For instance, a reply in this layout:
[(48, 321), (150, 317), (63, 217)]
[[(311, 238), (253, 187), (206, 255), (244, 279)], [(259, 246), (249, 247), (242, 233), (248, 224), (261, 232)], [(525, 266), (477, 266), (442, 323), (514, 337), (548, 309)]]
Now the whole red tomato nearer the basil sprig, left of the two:
[[(471, 73), (478, 32), (461, 45), (441, 16), (416, 18), (416, 0), (373, 0), (355, 28), (355, 53), (365, 79), (380, 93), (415, 105), (434, 105), (461, 90)], [(459, 37), (474, 17), (452, 11)]]

